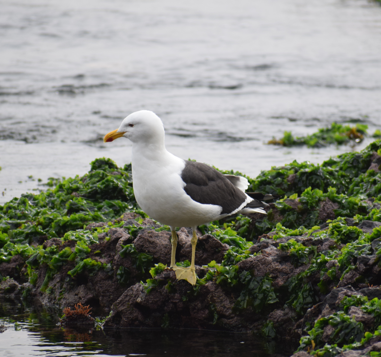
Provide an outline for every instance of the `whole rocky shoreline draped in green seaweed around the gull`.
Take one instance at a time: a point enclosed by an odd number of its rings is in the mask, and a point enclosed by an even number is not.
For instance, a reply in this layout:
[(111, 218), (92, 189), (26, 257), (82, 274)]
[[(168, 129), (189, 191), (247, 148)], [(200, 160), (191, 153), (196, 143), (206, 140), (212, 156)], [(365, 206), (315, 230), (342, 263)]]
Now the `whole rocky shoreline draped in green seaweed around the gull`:
[[(200, 227), (192, 287), (166, 268), (171, 233), (134, 203), (130, 167), (96, 160), (84, 177), (0, 206), (0, 296), (89, 305), (104, 328), (253, 332), (294, 356), (379, 356), (380, 165), (378, 140), (250, 179), (284, 198), (265, 218)], [(178, 238), (187, 265), (191, 231)]]

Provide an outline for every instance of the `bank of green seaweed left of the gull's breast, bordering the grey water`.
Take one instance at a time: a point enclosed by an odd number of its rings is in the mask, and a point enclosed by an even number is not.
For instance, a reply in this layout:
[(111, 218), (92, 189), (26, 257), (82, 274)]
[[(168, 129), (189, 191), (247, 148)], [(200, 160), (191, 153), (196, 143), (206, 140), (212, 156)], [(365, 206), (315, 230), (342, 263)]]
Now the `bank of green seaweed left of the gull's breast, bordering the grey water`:
[(137, 208), (131, 165), (118, 168), (110, 159), (96, 159), (82, 177), (51, 179), (46, 192), (28, 193), (0, 206), (0, 244), (4, 234), (13, 243), (31, 244), (47, 236), (62, 237), (89, 222), (109, 221)]

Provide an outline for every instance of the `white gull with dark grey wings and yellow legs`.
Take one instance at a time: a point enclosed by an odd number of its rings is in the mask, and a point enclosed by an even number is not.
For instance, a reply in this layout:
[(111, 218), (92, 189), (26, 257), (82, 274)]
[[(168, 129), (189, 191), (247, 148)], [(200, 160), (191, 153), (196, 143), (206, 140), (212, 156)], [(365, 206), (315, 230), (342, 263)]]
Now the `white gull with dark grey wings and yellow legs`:
[[(119, 137), (132, 141), (132, 177), (136, 201), (154, 220), (168, 225), (172, 233), (170, 268), (178, 280), (195, 285), (194, 256), (196, 228), (236, 213), (266, 214), (262, 200), (276, 198), (258, 192), (245, 193), (246, 178), (224, 175), (214, 168), (195, 161), (183, 160), (165, 148), (161, 119), (148, 110), (140, 110), (123, 119), (119, 129), (104, 136), (104, 142)], [(192, 228), (190, 267), (175, 264), (176, 227)]]

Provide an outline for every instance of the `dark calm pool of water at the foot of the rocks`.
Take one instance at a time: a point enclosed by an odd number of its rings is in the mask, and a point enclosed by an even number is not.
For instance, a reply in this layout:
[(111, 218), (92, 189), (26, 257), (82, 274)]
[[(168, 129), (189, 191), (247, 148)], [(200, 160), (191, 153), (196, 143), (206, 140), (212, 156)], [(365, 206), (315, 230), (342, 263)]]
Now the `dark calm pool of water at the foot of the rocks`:
[(0, 355), (19, 356), (148, 356), (268, 357), (289, 356), (292, 349), (252, 334), (196, 330), (131, 329), (74, 331), (57, 326), (52, 310), (0, 301)]

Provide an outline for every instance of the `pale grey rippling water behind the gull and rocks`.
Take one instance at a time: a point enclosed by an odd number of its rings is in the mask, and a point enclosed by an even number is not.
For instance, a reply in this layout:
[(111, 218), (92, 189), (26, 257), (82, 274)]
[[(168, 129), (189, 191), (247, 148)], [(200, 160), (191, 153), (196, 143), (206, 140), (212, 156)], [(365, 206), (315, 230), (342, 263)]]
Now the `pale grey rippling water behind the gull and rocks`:
[(97, 157), (130, 162), (128, 140), (102, 138), (140, 109), (161, 117), (172, 153), (251, 177), (351, 150), (264, 144), (285, 130), (381, 126), (377, 2), (1, 0), (0, 9), (0, 203), (38, 178), (84, 174)]

